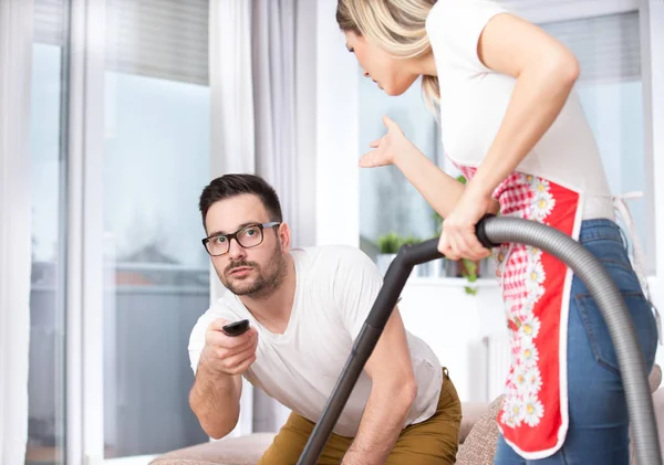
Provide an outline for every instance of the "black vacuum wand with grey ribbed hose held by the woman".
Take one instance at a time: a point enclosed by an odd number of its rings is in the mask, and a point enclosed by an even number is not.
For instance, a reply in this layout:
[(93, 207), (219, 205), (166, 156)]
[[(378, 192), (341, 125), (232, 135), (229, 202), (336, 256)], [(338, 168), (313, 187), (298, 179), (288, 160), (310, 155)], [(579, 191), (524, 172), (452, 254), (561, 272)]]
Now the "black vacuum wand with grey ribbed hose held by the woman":
[[(618, 356), (636, 462), (662, 465), (657, 424), (650, 392), (645, 362), (637, 344), (630, 311), (611, 276), (602, 264), (569, 235), (535, 221), (509, 216), (487, 216), (477, 224), (477, 237), (487, 249), (502, 243), (519, 243), (538, 247), (561, 260), (585, 284), (598, 303), (609, 327)], [(438, 240), (417, 245), (403, 245), (385, 274), (383, 286), (355, 339), (353, 349), (336, 381), (325, 410), (318, 421), (298, 465), (314, 465), (353, 391), (364, 364), (373, 352), (392, 310), (415, 265), (442, 258)]]

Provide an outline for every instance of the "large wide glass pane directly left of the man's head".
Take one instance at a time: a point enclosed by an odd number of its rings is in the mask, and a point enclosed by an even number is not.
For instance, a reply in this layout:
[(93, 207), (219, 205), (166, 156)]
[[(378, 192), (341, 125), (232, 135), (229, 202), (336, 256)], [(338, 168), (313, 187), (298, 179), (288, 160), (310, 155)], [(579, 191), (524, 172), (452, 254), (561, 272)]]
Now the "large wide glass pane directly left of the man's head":
[(106, 458), (208, 440), (188, 405), (187, 345), (209, 307), (198, 212), (210, 177), (209, 87), (116, 70), (110, 63), (104, 103)]

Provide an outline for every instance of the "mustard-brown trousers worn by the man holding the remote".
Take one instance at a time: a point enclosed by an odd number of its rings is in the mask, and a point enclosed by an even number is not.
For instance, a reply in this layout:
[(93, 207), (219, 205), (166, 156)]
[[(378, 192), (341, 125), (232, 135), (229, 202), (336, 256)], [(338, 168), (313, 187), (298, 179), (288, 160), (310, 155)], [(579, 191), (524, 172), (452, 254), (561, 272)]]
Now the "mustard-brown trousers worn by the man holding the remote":
[[(430, 419), (406, 426), (402, 431), (385, 462), (386, 465), (455, 463), (461, 425), (461, 403), (447, 374), (447, 369), (443, 369), (443, 389), (436, 413)], [(291, 413), (258, 465), (297, 464), (313, 427), (314, 424), (309, 420)], [(340, 464), (352, 442), (352, 437), (332, 433), (318, 464)]]

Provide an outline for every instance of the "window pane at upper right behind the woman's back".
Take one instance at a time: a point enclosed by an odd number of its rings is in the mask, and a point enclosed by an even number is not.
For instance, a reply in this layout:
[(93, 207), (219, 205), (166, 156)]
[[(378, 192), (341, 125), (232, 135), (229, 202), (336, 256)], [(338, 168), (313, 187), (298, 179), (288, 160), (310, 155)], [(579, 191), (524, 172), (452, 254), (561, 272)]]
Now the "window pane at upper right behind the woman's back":
[[(636, 236), (645, 254), (645, 270), (655, 273), (654, 222), (647, 214), (643, 140), (643, 85), (639, 13), (614, 14), (546, 24), (578, 56), (581, 78), (577, 89), (598, 141), (613, 194), (643, 192), (626, 200)], [(625, 224), (621, 221), (623, 226)], [(627, 231), (625, 229), (625, 231)], [(626, 234), (629, 242), (633, 241)]]

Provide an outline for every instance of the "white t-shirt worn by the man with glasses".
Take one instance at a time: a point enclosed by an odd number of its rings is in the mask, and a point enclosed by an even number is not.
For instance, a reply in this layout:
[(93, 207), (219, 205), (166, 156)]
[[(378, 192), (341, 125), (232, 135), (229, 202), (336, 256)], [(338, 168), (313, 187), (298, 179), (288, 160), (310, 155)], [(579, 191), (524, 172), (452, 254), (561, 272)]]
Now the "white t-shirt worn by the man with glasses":
[[(246, 379), (293, 412), (317, 422), (381, 289), (382, 277), (363, 252), (350, 246), (293, 249), (291, 255), (297, 285), (286, 331), (270, 332), (237, 296), (226, 293), (194, 327), (189, 358), (196, 372), (205, 331), (214, 319), (249, 319), (258, 330), (258, 349)], [(443, 383), (443, 369), (433, 350), (411, 334), (407, 339), (418, 392), (405, 425), (435, 413)], [(355, 436), (371, 387), (371, 378), (363, 372), (334, 433)]]

